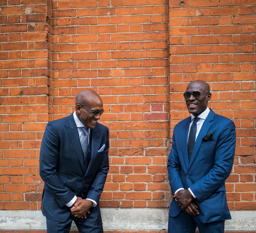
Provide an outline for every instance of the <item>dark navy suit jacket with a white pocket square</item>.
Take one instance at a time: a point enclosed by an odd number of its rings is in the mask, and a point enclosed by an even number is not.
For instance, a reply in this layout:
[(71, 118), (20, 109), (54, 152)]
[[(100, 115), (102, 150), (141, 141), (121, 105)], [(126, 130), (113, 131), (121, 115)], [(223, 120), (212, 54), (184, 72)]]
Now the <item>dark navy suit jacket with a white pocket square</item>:
[[(45, 182), (42, 213), (47, 218), (66, 221), (71, 213), (66, 204), (75, 195), (99, 203), (109, 170), (106, 126), (97, 122), (91, 129), (90, 148), (91, 160), (85, 170), (73, 114), (47, 124), (40, 149), (40, 176)], [(99, 205), (90, 212), (99, 215)]]

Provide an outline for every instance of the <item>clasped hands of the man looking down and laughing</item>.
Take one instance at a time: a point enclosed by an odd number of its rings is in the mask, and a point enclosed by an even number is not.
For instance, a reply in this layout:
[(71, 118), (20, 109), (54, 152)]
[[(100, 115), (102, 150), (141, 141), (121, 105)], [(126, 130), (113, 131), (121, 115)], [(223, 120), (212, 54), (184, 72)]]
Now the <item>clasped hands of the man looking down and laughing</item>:
[(86, 214), (90, 213), (92, 201), (77, 197), (75, 203), (70, 207), (71, 214), (78, 218), (86, 218)]

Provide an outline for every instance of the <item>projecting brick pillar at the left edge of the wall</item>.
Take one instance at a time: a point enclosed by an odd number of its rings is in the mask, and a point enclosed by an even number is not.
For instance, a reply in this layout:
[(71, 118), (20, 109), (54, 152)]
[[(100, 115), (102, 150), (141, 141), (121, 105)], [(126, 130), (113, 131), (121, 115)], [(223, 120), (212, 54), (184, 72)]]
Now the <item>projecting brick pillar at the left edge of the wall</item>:
[(36, 210), (39, 148), (49, 120), (47, 1), (0, 2), (0, 209)]

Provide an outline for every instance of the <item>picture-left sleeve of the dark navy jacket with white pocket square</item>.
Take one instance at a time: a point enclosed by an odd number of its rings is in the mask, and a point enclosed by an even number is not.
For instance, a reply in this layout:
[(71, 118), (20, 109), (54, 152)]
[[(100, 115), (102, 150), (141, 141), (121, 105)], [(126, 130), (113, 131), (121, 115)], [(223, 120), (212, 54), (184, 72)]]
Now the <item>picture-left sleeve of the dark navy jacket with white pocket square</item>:
[(46, 126), (40, 149), (39, 171), (49, 190), (60, 206), (67, 204), (75, 193), (67, 188), (57, 174), (60, 139), (52, 122)]

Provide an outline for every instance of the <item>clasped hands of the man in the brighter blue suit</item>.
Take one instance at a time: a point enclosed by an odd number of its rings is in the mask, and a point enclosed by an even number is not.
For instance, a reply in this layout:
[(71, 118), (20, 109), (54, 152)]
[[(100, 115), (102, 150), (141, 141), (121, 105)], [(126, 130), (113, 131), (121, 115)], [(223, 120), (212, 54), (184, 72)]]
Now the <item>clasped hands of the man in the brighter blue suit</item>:
[(178, 191), (173, 198), (177, 201), (177, 205), (190, 215), (198, 215), (198, 206), (194, 201), (194, 197), (188, 189)]

